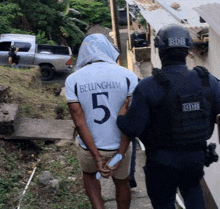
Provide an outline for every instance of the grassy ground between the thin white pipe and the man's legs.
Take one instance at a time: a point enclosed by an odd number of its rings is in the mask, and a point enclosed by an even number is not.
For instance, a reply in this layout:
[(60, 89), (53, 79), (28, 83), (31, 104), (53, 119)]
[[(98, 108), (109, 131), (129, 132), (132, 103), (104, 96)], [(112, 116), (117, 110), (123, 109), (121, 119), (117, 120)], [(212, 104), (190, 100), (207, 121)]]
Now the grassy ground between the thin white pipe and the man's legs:
[[(38, 164), (36, 177), (33, 179), (35, 184), (30, 186), (25, 198), (22, 200), (22, 208), (92, 208), (82, 189), (83, 182), (75, 147), (64, 147), (59, 151), (59, 155), (54, 155), (55, 150), (56, 147), (49, 146), (39, 156), (41, 161)], [(36, 186), (38, 185), (37, 176), (45, 170), (49, 170), (53, 177), (60, 181), (58, 192), (50, 188)], [(74, 180), (70, 178), (74, 178)]]

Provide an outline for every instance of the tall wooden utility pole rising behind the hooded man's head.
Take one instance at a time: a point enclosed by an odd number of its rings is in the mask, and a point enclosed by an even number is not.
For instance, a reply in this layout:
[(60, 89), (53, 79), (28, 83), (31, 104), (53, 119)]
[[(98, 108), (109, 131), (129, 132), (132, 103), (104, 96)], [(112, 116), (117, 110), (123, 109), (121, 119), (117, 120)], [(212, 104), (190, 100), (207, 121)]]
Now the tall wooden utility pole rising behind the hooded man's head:
[[(111, 20), (112, 20), (112, 35), (115, 46), (121, 52), (121, 39), (118, 27), (118, 12), (116, 0), (110, 0)], [(118, 58), (118, 64), (121, 65), (121, 57)]]

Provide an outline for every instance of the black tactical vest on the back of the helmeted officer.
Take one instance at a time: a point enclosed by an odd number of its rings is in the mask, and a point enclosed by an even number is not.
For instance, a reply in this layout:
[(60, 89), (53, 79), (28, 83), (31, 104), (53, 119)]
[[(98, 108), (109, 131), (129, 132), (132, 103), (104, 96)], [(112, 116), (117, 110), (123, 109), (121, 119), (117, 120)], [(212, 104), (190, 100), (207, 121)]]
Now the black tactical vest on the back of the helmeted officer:
[(196, 91), (187, 88), (187, 83), (186, 87), (179, 88), (171, 84), (163, 70), (153, 70), (153, 76), (163, 87), (164, 97), (159, 104), (150, 107), (151, 127), (141, 136), (146, 140), (145, 146), (197, 150), (206, 145), (214, 129), (214, 96), (209, 85), (209, 72), (203, 67), (193, 70), (198, 73)]

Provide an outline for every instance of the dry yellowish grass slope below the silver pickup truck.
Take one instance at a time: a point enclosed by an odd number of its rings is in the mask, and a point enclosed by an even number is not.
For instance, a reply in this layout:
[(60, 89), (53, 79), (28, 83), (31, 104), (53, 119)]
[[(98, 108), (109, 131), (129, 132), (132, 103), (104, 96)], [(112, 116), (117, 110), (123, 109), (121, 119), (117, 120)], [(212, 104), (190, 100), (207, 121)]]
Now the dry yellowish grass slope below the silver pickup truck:
[(70, 119), (66, 98), (56, 96), (54, 89), (64, 84), (43, 85), (38, 68), (14, 69), (0, 67), (0, 85), (10, 87), (6, 102), (18, 103), (21, 116), (29, 118), (55, 118), (56, 105), (61, 105), (65, 116)]

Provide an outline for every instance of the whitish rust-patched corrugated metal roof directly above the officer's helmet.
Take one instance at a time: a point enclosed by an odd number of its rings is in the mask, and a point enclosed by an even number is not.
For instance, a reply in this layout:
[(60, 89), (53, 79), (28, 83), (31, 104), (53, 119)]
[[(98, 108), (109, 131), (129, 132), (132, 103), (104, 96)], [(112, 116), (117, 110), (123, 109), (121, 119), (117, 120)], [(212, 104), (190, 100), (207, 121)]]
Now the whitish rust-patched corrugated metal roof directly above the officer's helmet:
[[(134, 3), (140, 9), (141, 15), (154, 28), (156, 32), (165, 25), (179, 24), (189, 29), (191, 35), (208, 28), (207, 23), (200, 22), (200, 15), (193, 9), (207, 3), (220, 2), (220, 0), (126, 0), (128, 4)], [(130, 3), (129, 3), (130, 2)], [(173, 9), (172, 3), (179, 4)]]

